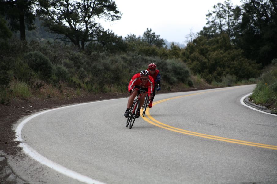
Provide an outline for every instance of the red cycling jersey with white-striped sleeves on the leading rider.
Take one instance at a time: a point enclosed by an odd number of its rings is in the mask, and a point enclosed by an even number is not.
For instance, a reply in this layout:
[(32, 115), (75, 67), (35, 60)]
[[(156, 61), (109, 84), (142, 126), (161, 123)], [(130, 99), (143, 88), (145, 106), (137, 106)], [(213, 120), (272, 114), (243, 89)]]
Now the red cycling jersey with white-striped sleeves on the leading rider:
[(129, 85), (128, 85), (128, 91), (130, 92), (130, 90), (135, 86), (138, 85), (141, 88), (148, 88), (148, 92), (153, 92), (154, 89), (154, 79), (149, 76), (148, 80), (145, 84), (143, 84), (141, 78), (140, 78), (140, 73), (134, 74), (133, 77), (131, 78)]

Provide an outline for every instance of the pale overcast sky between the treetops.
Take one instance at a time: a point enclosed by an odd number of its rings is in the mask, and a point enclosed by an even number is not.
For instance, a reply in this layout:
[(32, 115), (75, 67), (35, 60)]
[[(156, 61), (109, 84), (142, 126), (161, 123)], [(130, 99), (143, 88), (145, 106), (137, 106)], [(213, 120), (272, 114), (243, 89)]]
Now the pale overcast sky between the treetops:
[[(142, 36), (151, 28), (160, 38), (169, 42), (185, 43), (192, 29), (197, 33), (205, 26), (206, 14), (213, 5), (224, 0), (114, 0), (122, 13), (121, 20), (101, 21), (105, 29), (118, 36), (135, 34)], [(232, 0), (233, 5), (241, 5), (240, 0)]]

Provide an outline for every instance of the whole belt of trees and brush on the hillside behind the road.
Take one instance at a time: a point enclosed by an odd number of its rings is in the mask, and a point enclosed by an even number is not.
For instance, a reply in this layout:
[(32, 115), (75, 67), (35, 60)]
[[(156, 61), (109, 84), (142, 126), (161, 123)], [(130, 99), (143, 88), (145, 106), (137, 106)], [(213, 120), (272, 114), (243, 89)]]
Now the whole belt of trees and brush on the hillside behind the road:
[[(121, 18), (110, 0), (97, 7), (92, 0), (39, 1), (37, 6), (20, 2), (0, 1), (2, 104), (31, 97), (125, 93), (133, 74), (149, 63), (157, 64), (166, 91), (253, 84), (277, 58), (276, 1), (218, 3), (208, 12), (203, 30), (191, 33), (183, 48), (165, 46), (151, 28), (125, 38), (104, 30), (96, 17)], [(21, 10), (25, 14), (17, 14)]]

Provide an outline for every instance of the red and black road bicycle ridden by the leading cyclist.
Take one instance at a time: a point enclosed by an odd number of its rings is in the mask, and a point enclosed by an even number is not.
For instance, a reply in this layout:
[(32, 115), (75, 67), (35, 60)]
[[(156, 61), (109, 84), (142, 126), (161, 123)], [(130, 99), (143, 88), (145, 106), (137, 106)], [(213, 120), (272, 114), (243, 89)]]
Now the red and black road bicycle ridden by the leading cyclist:
[(142, 94), (143, 93), (150, 94), (150, 92), (142, 90), (141, 88), (133, 88), (133, 89), (138, 90), (138, 92), (137, 92), (137, 97), (134, 99), (134, 102), (133, 102), (132, 106), (130, 107), (129, 116), (127, 117), (126, 127), (128, 127), (128, 125), (129, 125), (130, 129), (133, 127), (133, 124), (135, 122), (137, 111), (138, 111), (138, 106), (140, 104)]

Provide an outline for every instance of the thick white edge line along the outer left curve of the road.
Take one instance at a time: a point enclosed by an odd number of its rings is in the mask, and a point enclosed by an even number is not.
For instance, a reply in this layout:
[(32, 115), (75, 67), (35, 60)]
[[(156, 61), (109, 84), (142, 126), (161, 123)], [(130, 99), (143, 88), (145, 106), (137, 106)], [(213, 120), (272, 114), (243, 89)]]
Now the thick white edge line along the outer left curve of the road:
[[(115, 99), (110, 99), (110, 100), (115, 100)], [(103, 101), (107, 101), (107, 100), (103, 100)], [(92, 178), (89, 178), (88, 176), (84, 176), (84, 175), (81, 175), (75, 171), (72, 171), (68, 168), (65, 168), (64, 166), (62, 165), (59, 165), (51, 160), (49, 160), (48, 158), (42, 156), (41, 154), (39, 154), (38, 152), (36, 152), (36, 150), (34, 150), (33, 148), (31, 148), (30, 146), (28, 146), (26, 143), (23, 142), (23, 139), (21, 137), (21, 131), (24, 127), (24, 125), (30, 121), (31, 119), (33, 119), (34, 117), (37, 117), (41, 114), (44, 114), (44, 113), (47, 113), (47, 112), (50, 112), (50, 111), (53, 111), (53, 110), (58, 110), (58, 109), (63, 109), (63, 108), (68, 108), (68, 107), (73, 107), (73, 106), (80, 106), (80, 105), (86, 105), (86, 104), (89, 104), (89, 103), (95, 103), (96, 101), (94, 102), (88, 102), (88, 103), (79, 103), (79, 104), (75, 104), (75, 105), (69, 105), (69, 106), (64, 106), (64, 107), (58, 107), (58, 108), (54, 108), (54, 109), (50, 109), (50, 110), (46, 110), (46, 111), (43, 111), (43, 112), (40, 112), (40, 113), (37, 113), (37, 114), (34, 114), (28, 118), (26, 118), (24, 121), (22, 121), (16, 128), (15, 130), (15, 135), (16, 135), (16, 139), (15, 141), (20, 141), (21, 143), (19, 144), (19, 146), (21, 148), (23, 148), (24, 152), (27, 153), (30, 157), (32, 157), (33, 159), (35, 159), (36, 161), (38, 161), (39, 163), (41, 164), (44, 164), (52, 169), (54, 169), (55, 171), (58, 171), (59, 173), (61, 174), (64, 174), (70, 178), (73, 178), (73, 179), (76, 179), (80, 182), (84, 182), (84, 183), (89, 183), (89, 184), (105, 184), (103, 182), (100, 182), (100, 181), (97, 181), (95, 179), (92, 179)], [(99, 102), (99, 101), (97, 101)]]

